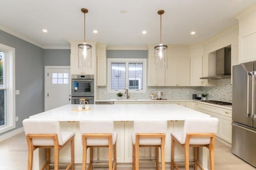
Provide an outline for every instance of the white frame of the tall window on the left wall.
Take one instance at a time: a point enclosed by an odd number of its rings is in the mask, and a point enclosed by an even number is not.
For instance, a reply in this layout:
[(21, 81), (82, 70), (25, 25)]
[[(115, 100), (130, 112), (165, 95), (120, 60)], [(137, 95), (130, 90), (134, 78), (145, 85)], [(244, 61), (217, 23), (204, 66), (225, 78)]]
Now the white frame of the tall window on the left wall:
[(16, 127), (15, 112), (15, 48), (1, 44), (0, 51), (4, 52), (4, 88), (6, 89), (6, 125), (0, 127), (4, 133)]

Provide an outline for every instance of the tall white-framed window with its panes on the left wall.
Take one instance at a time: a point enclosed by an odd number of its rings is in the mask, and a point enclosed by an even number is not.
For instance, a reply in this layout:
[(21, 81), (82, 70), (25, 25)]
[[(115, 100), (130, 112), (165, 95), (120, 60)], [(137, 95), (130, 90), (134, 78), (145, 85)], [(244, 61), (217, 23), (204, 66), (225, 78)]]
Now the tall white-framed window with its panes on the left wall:
[(15, 128), (15, 49), (0, 43), (0, 133)]

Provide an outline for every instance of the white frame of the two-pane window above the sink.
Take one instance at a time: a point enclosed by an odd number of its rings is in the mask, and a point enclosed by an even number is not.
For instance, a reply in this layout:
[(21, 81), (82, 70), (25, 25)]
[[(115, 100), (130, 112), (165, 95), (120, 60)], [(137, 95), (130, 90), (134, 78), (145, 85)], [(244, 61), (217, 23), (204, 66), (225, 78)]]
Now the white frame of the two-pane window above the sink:
[[(124, 92), (127, 88), (129, 93), (147, 93), (147, 59), (116, 59), (108, 58), (107, 59), (107, 92), (108, 93), (118, 93)], [(125, 64), (125, 89), (111, 89), (111, 63), (126, 63)], [(142, 63), (142, 76), (143, 76), (143, 89), (129, 89), (129, 63)]]

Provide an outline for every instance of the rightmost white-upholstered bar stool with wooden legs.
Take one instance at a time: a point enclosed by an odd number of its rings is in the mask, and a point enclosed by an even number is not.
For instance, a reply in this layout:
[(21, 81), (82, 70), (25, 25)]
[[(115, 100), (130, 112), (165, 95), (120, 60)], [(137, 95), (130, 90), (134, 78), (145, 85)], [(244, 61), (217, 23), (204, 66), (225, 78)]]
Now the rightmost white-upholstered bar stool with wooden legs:
[(184, 121), (183, 131), (171, 133), (171, 170), (174, 166), (179, 170), (174, 161), (174, 144), (178, 143), (185, 151), (185, 170), (189, 170), (189, 147), (194, 147), (194, 169), (197, 166), (204, 170), (198, 162), (198, 147), (207, 147), (210, 155), (210, 170), (214, 170), (214, 143), (218, 129), (218, 119), (208, 118), (187, 118)]

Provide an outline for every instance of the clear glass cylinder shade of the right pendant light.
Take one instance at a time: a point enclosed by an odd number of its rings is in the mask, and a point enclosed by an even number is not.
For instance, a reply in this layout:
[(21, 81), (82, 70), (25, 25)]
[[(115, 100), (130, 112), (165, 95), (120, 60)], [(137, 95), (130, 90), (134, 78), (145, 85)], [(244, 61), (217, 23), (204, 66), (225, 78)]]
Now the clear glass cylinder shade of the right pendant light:
[(167, 45), (159, 44), (155, 49), (155, 70), (167, 69)]

